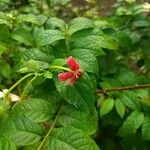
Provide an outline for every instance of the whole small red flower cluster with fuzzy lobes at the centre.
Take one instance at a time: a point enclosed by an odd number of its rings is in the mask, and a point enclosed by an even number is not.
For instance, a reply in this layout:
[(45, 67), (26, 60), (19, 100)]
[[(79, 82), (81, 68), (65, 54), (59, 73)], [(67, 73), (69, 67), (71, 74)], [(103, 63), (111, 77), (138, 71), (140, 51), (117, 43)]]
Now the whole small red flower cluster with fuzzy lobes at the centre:
[(66, 63), (71, 71), (59, 73), (58, 79), (60, 81), (67, 81), (67, 84), (73, 85), (76, 79), (82, 76), (82, 70), (80, 70), (79, 64), (72, 56), (66, 59)]

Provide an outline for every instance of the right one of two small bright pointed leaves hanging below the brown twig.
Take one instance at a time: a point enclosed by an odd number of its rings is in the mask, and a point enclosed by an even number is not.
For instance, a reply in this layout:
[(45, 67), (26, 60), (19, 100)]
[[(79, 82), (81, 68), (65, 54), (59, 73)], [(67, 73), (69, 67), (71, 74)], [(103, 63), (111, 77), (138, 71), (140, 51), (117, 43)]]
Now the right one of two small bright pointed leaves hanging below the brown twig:
[(123, 118), (123, 116), (125, 114), (125, 108), (126, 108), (124, 103), (120, 99), (116, 99), (115, 100), (115, 107), (116, 107), (116, 111), (119, 114), (119, 116), (121, 118)]

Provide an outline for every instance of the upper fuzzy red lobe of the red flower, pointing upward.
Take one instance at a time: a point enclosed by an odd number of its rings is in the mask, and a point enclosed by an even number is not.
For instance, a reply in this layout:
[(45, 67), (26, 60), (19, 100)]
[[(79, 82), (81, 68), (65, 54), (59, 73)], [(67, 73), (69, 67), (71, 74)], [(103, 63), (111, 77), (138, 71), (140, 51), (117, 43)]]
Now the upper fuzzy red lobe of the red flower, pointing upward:
[(66, 61), (67, 61), (68, 67), (71, 70), (75, 71), (79, 69), (79, 64), (75, 61), (75, 59), (72, 56), (68, 57)]

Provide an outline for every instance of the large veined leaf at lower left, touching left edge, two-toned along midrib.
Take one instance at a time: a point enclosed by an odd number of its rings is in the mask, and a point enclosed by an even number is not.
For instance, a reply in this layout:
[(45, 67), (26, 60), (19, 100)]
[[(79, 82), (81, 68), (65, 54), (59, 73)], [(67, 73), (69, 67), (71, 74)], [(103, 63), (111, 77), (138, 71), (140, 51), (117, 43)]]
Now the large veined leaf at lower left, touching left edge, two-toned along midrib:
[(25, 116), (18, 116), (14, 112), (1, 123), (0, 137), (9, 137), (10, 141), (17, 146), (30, 145), (40, 140), (39, 134), (43, 132), (42, 127), (29, 120)]

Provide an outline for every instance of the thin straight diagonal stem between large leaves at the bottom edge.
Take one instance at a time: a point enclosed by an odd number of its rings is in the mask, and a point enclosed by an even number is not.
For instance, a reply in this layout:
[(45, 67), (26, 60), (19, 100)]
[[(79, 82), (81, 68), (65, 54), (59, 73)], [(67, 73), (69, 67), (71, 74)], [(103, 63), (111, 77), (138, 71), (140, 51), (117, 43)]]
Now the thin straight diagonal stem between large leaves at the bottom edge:
[(56, 124), (56, 122), (57, 122), (57, 120), (58, 120), (58, 117), (59, 117), (59, 115), (60, 115), (60, 112), (61, 112), (62, 108), (63, 108), (63, 106), (60, 108), (59, 112), (57, 113), (56, 118), (55, 118), (55, 120), (54, 120), (52, 126), (50, 127), (49, 131), (47, 132), (46, 136), (44, 137), (43, 141), (41, 142), (41, 144), (39, 145), (39, 147), (38, 147), (37, 150), (42, 150), (42, 147), (44, 146), (44, 144), (45, 144), (45, 142), (46, 142), (48, 136), (49, 136), (50, 133), (52, 132), (52, 130), (53, 130), (53, 128), (54, 128), (54, 126), (55, 126), (55, 124)]

